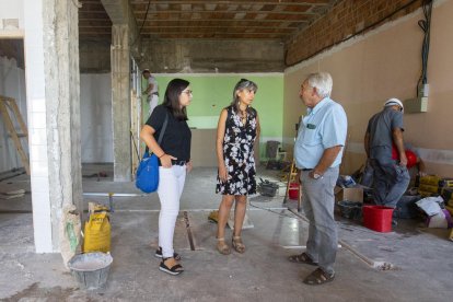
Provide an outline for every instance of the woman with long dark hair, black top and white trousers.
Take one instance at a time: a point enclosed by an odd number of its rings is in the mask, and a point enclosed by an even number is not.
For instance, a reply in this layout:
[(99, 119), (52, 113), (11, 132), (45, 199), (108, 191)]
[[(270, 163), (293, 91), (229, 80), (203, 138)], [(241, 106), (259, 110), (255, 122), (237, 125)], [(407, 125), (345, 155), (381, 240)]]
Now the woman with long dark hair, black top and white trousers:
[[(159, 214), (159, 248), (155, 251), (155, 256), (162, 258), (159, 269), (171, 275), (183, 272), (179, 264), (181, 257), (173, 249), (173, 235), (186, 173), (191, 170), (191, 132), (186, 121), (188, 119), (186, 107), (190, 101), (189, 82), (182, 79), (170, 81), (162, 105), (155, 107), (140, 131), (140, 138), (160, 160), (158, 194), (161, 212)], [(161, 133), (165, 119), (167, 119), (167, 125), (162, 142), (159, 144), (156, 138)]]

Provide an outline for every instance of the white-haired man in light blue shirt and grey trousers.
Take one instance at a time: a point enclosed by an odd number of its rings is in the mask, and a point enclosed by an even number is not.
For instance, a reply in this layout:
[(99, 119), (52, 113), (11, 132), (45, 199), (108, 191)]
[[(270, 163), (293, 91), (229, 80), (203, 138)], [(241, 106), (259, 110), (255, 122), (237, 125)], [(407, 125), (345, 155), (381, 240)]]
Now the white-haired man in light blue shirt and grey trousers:
[(294, 144), (298, 179), (302, 184), (303, 210), (309, 219), (306, 251), (290, 262), (318, 266), (303, 282), (322, 284), (335, 277), (338, 248), (334, 219), (334, 187), (338, 178), (348, 121), (342, 106), (330, 98), (332, 77), (310, 74), (301, 85), (300, 97), (307, 107)]

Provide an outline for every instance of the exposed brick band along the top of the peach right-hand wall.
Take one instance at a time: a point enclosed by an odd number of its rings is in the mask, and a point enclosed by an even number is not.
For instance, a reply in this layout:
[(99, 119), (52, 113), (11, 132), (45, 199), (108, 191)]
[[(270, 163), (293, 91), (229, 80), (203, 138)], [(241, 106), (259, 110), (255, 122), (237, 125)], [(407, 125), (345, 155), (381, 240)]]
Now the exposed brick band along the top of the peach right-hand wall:
[[(286, 63), (288, 66), (295, 65), (330, 48), (349, 36), (358, 33), (363, 34), (385, 22), (402, 18), (417, 10), (421, 2), (421, 0), (340, 1), (326, 15), (287, 42)], [(405, 5), (407, 7), (400, 10)], [(398, 12), (393, 14), (396, 11)], [(390, 18), (385, 19), (386, 16)], [(385, 20), (382, 21), (383, 19)]]

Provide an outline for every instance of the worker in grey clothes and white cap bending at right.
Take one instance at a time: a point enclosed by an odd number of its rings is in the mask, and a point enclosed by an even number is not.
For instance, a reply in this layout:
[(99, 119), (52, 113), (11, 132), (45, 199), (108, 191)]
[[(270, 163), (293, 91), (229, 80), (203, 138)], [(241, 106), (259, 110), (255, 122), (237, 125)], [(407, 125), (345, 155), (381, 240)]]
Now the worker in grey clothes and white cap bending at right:
[[(373, 169), (373, 195), (378, 205), (395, 208), (410, 182), (403, 140), (403, 103), (390, 98), (370, 118), (364, 136), (368, 162)], [(396, 221), (393, 221), (396, 225)]]

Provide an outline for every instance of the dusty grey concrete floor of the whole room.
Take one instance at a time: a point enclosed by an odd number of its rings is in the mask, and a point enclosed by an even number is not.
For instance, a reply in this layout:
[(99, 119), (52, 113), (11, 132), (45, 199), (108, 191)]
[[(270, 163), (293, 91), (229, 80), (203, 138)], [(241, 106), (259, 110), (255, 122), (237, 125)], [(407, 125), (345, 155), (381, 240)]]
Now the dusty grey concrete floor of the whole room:
[[(83, 174), (105, 171), (108, 177), (83, 178), (89, 200), (108, 204), (89, 193), (140, 194), (131, 183), (113, 183), (112, 166), (84, 166)], [(276, 172), (258, 171), (276, 179)], [(243, 232), (245, 254), (220, 255), (216, 224), (214, 169), (195, 169), (182, 198), (175, 248), (185, 272), (170, 276), (158, 269), (159, 199), (114, 195), (112, 255), (105, 288), (83, 290), (68, 272), (59, 254), (35, 254), (30, 194), (0, 199), (0, 300), (4, 301), (449, 301), (452, 297), (453, 243), (448, 230), (425, 229), (419, 221), (399, 220), (391, 233), (368, 230), (338, 217), (342, 247), (334, 282), (310, 287), (301, 278), (313, 267), (291, 264), (287, 257), (305, 245), (303, 214), (282, 207), (284, 188), (275, 198), (252, 197), (248, 217), (254, 228)], [(25, 175), (0, 182), (0, 191), (30, 190)], [(289, 202), (294, 208), (294, 201)], [(187, 213), (187, 220), (184, 218)], [(188, 229), (193, 235), (193, 248)], [(229, 232), (230, 233), (230, 232)], [(382, 263), (392, 269), (373, 268)], [(382, 267), (381, 267), (382, 268)]]

